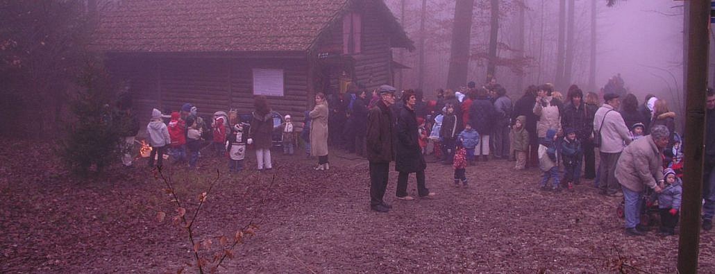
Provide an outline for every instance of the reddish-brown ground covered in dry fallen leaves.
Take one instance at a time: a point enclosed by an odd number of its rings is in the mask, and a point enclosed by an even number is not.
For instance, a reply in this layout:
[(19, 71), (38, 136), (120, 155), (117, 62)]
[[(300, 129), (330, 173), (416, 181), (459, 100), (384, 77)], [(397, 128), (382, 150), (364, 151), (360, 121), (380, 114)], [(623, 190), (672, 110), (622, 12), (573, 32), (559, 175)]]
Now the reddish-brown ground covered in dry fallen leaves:
[[(573, 193), (541, 192), (538, 170), (490, 161), (468, 167), (470, 187), (453, 187), (451, 167), (430, 163), (435, 199), (396, 200), (391, 174), (385, 200), (393, 210), (383, 214), (368, 207), (366, 160), (333, 150), (330, 170), (318, 172), (315, 159), (273, 154), (270, 172), (255, 171), (252, 153), (235, 175), (213, 157), (202, 157), (198, 171), (165, 170), (187, 215), (221, 172), (195, 223), (197, 240), (260, 226), (224, 273), (603, 273), (618, 263), (675, 272), (678, 238), (623, 235), (621, 198), (597, 195), (591, 181)], [(51, 155), (46, 144), (0, 141), (0, 273), (195, 272), (187, 233), (171, 224), (175, 207), (145, 162), (80, 180)], [(415, 188), (410, 177), (410, 195)], [(166, 220), (157, 222), (157, 210)], [(701, 273), (715, 272), (713, 235), (701, 235)], [(201, 252), (220, 248), (213, 243)]]

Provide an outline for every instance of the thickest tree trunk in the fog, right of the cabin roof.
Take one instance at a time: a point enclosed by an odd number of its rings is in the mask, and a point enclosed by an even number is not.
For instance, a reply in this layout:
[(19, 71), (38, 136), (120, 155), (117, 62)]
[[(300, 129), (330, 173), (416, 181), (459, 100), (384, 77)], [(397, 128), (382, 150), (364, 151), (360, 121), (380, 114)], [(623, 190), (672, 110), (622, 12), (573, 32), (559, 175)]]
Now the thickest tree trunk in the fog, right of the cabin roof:
[(455, 88), (467, 82), (470, 34), (474, 0), (457, 0), (454, 9), (452, 45), (450, 49), (447, 87)]

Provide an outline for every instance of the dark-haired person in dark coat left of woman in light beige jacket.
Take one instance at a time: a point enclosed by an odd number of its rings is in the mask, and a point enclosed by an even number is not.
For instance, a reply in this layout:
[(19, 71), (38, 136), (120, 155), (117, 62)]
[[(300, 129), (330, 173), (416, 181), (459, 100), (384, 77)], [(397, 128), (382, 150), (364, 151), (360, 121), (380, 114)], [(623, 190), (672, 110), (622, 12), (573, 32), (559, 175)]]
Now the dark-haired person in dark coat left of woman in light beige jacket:
[(527, 167), (538, 167), (538, 135), (536, 134), (538, 116), (533, 112), (534, 101), (536, 101), (536, 86), (531, 85), (526, 88), (524, 95), (514, 104), (512, 114), (514, 121), (516, 121), (516, 117), (526, 116), (524, 128), (526, 132), (529, 132), (529, 150), (526, 154)]

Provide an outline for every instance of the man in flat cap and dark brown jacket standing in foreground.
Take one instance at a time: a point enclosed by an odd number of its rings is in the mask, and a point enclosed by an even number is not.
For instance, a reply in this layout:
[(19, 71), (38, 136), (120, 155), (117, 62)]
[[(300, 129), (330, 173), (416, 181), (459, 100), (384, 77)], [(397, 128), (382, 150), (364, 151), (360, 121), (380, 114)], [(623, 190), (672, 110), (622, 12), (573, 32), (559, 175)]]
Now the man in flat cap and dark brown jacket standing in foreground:
[(390, 162), (395, 160), (395, 128), (390, 106), (395, 104), (395, 88), (386, 84), (378, 89), (380, 101), (368, 113), (368, 132), (365, 134), (370, 162), (370, 209), (390, 211), (383, 201), (388, 187)]

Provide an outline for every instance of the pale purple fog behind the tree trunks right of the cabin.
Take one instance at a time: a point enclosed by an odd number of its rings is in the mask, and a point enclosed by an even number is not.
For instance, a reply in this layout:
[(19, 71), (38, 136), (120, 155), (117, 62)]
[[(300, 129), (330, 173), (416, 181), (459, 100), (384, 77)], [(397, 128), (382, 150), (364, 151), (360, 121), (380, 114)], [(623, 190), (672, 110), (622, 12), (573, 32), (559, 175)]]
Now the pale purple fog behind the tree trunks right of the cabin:
[[(641, 102), (648, 93), (682, 104), (682, 56), (683, 56), (683, 8), (681, 1), (671, 0), (629, 0), (618, 1), (616, 6), (606, 6), (605, 0), (596, 1), (596, 79), (595, 88), (589, 87), (589, 53), (591, 49), (591, 1), (575, 1), (574, 58), (570, 84), (578, 84), (584, 92), (599, 92), (608, 78), (621, 74), (628, 92), (636, 94)], [(401, 0), (386, 3), (393, 14), (402, 20)], [(420, 54), (420, 10), (422, 1), (405, 1), (403, 25), (418, 47), (413, 52), (396, 49), (395, 59), (410, 69), (403, 70), (402, 79), (397, 77), (396, 85), (402, 88), (419, 86), (418, 56)], [(484, 4), (484, 2), (486, 4)], [(500, 1), (500, 27), (498, 41), (511, 48), (518, 41), (519, 1)], [(568, 2), (568, 1), (567, 1)], [(455, 1), (430, 0), (426, 2), (425, 19), (425, 77), (423, 89), (431, 91), (443, 88), (448, 77), (450, 57), (450, 36), (454, 18)], [(518, 74), (508, 67), (498, 66), (498, 82), (507, 87), (512, 97), (521, 96), (528, 84), (554, 82), (556, 75), (556, 40), (558, 37), (558, 0), (525, 1), (526, 20), (524, 27), (524, 54), (531, 62), (524, 68), (523, 84), (518, 87)], [(488, 1), (475, 1), (471, 35), (472, 57), (485, 49), (488, 43), (489, 12)], [(545, 41), (541, 41), (544, 39)], [(543, 44), (542, 44), (543, 43)], [(402, 54), (402, 55), (401, 55)], [(498, 57), (510, 57), (504, 47), (498, 50)], [(483, 82), (486, 78), (486, 61), (471, 58), (468, 81)], [(558, 89), (559, 87), (557, 87)], [(562, 91), (565, 89), (561, 87)], [(431, 93), (431, 92), (428, 92)], [(671, 103), (678, 111), (681, 106)]]

